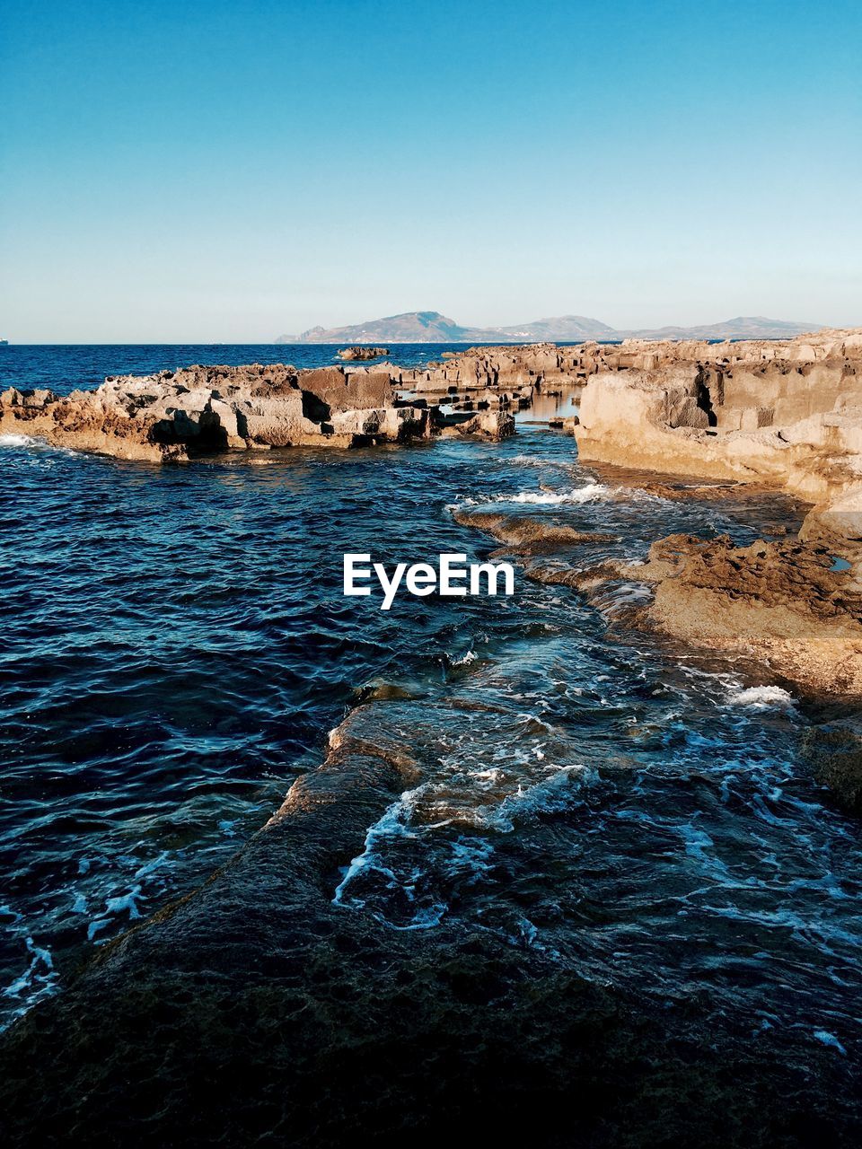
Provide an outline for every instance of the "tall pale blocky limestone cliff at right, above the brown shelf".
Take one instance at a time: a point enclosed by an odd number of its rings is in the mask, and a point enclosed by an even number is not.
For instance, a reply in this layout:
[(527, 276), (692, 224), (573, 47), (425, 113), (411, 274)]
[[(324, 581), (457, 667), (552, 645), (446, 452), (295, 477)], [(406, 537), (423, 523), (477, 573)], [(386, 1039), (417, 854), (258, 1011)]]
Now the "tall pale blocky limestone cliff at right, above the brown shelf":
[(862, 540), (862, 332), (606, 349), (575, 427), (582, 458), (786, 487), (819, 535)]

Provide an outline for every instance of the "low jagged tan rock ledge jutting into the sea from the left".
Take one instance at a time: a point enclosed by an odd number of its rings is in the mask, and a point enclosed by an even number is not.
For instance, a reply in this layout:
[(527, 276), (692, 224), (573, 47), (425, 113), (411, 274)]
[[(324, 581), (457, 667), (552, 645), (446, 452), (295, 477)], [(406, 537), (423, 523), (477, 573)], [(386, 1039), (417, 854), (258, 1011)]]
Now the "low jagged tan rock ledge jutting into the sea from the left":
[[(230, 449), (403, 442), (442, 430), (426, 403), (399, 400), (388, 371), (364, 368), (191, 367), (108, 377), (67, 396), (15, 387), (0, 394), (0, 433), (160, 463)], [(499, 439), (514, 419), (487, 411), (446, 431)]]

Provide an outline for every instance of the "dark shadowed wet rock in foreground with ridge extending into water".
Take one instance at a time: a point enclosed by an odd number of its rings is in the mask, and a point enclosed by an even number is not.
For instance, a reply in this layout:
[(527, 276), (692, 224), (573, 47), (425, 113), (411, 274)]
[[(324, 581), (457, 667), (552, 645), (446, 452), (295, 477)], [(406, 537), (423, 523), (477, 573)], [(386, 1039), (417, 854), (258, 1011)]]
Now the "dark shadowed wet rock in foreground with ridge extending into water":
[(0, 1036), (5, 1147), (857, 1143), (855, 1059), (795, 1028), (753, 1041), (493, 921), (395, 928), (339, 900), (438, 724), (500, 737), (491, 710), (428, 704), (354, 711), (230, 864)]

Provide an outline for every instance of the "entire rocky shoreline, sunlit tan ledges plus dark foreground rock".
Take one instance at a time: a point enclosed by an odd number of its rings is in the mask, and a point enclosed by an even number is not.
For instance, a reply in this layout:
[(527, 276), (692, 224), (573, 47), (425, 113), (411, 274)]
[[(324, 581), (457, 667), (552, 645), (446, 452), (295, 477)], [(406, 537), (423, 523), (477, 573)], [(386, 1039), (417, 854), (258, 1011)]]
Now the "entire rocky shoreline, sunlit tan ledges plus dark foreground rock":
[[(588, 601), (649, 586), (648, 603), (618, 614), (625, 627), (753, 657), (846, 701), (862, 697), (860, 348), (844, 333), (780, 346), (480, 349), (423, 372), (192, 368), (67, 399), (7, 391), (0, 432), (156, 462), (495, 438), (513, 430), (513, 408), (577, 387), (585, 458), (787, 489), (815, 503), (805, 538), (738, 547), (672, 535), (636, 565), (595, 561), (607, 535), (537, 516), (462, 508), (456, 520), (518, 554), (530, 578)], [(461, 421), (446, 424), (440, 406)], [(669, 479), (639, 481), (684, 498)], [(380, 691), (354, 709), (320, 769), (229, 865), (107, 944), (3, 1035), (6, 1143), (339, 1146), (359, 1126), (394, 1146), (438, 1142), (477, 1117), (487, 1136), (561, 1143), (537, 1136), (537, 1113), (569, 1131), (565, 1143), (597, 1147), (857, 1143), (855, 1064), (832, 1048), (778, 1026), (746, 1046), (730, 1023), (713, 1019), (706, 1033), (694, 1002), (660, 1005), (454, 916), (382, 933), (372, 915), (339, 904), (369, 827), (431, 776), (434, 730), (468, 739), (478, 724), (484, 740), (505, 739), (494, 712), (454, 691)], [(860, 745), (839, 723), (807, 747), (855, 812)]]

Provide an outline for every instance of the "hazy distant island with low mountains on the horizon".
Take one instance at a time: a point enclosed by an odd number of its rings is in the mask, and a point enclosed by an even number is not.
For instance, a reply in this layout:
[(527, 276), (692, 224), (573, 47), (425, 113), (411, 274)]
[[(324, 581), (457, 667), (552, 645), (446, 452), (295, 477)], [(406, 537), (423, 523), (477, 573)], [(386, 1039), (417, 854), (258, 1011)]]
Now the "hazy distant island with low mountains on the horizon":
[(309, 327), (299, 336), (279, 336), (277, 344), (538, 344), (617, 339), (792, 339), (819, 331), (822, 323), (738, 316), (694, 327), (619, 330), (584, 315), (516, 323), (508, 327), (462, 326), (439, 311), (403, 311), (346, 327)]

